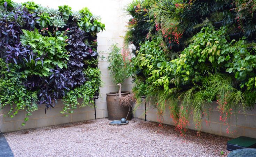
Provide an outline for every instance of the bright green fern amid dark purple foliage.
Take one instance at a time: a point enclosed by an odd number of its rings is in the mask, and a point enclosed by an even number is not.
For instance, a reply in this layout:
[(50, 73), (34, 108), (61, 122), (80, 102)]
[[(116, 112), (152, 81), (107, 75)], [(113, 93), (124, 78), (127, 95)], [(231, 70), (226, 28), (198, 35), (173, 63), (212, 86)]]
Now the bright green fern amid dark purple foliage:
[(65, 40), (67, 36), (42, 36), (37, 29), (34, 31), (22, 30), (21, 43), (23, 46), (30, 46), (36, 54), (36, 58), (42, 58), (40, 61), (30, 60), (26, 63), (26, 69), (29, 74), (39, 74), (39, 76), (52, 75), (51, 69), (67, 67), (69, 60), (68, 52), (65, 50)]

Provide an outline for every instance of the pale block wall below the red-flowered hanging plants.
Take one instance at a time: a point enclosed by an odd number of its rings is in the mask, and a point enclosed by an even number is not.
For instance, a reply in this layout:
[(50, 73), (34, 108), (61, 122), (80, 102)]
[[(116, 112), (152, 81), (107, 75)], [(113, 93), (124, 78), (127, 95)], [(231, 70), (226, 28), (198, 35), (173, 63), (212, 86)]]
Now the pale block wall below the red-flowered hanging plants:
[[(208, 123), (206, 123), (206, 117), (203, 117), (202, 122), (202, 132), (207, 132), (211, 134), (236, 138), (239, 136), (247, 136), (256, 138), (256, 109), (246, 111), (246, 114), (243, 113), (236, 113), (231, 117), (230, 123), (230, 131), (233, 133), (227, 133), (227, 125), (223, 122), (219, 121), (220, 113), (217, 110), (216, 102), (210, 104), (210, 115)], [(147, 113), (147, 121), (158, 122), (157, 121), (157, 109), (150, 106), (148, 103), (146, 105), (146, 113)], [(145, 119), (145, 105), (144, 102), (135, 110), (134, 117)], [(163, 115), (163, 123), (168, 125), (174, 125), (172, 118), (170, 117), (170, 112), (166, 109)], [(193, 124), (192, 119), (190, 119), (190, 125), (188, 126), (189, 129), (195, 130), (195, 124)]]

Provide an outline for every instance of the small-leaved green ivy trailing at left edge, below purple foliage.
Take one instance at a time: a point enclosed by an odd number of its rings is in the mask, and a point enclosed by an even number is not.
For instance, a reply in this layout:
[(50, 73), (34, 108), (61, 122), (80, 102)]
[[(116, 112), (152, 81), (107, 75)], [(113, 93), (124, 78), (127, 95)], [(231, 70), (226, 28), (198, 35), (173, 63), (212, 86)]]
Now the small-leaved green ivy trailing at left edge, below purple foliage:
[[(26, 110), (24, 121), (28, 121), (32, 111), (37, 110), (37, 92), (28, 91), (23, 85), (24, 73), (17, 72), (21, 67), (9, 64), (0, 58), (0, 105), (1, 109), (10, 106), (8, 116), (14, 117), (19, 110)], [(23, 123), (22, 125), (24, 125)]]

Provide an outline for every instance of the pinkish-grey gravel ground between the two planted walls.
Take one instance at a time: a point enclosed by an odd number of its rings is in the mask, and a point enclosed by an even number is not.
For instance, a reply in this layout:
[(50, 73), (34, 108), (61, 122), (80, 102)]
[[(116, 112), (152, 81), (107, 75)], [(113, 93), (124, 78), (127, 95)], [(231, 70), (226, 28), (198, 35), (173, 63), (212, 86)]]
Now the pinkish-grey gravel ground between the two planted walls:
[(124, 126), (107, 118), (5, 134), (15, 156), (224, 156), (229, 138), (188, 130), (181, 137), (174, 126), (133, 119)]

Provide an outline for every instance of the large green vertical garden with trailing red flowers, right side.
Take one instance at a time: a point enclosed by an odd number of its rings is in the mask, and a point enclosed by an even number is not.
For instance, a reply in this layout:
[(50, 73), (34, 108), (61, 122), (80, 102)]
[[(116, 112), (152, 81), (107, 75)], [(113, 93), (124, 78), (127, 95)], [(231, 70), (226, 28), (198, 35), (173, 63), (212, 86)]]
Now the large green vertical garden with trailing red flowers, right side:
[(181, 133), (191, 116), (200, 131), (217, 101), (232, 132), (235, 109), (256, 103), (256, 1), (134, 0), (126, 10), (135, 97), (147, 97), (159, 122), (169, 108)]

